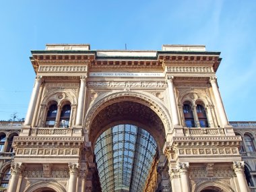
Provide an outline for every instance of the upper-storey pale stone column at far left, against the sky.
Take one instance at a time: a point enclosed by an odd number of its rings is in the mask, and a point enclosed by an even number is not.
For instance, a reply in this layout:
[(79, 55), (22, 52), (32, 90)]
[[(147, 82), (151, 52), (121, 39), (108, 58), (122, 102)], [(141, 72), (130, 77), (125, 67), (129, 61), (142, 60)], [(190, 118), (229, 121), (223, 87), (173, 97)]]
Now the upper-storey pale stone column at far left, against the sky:
[(26, 115), (26, 119), (24, 125), (31, 125), (33, 115), (34, 115), (34, 108), (36, 107), (36, 100), (38, 98), (39, 88), (42, 82), (42, 76), (36, 76), (34, 88), (32, 90), (30, 104), (28, 105), (28, 112)]

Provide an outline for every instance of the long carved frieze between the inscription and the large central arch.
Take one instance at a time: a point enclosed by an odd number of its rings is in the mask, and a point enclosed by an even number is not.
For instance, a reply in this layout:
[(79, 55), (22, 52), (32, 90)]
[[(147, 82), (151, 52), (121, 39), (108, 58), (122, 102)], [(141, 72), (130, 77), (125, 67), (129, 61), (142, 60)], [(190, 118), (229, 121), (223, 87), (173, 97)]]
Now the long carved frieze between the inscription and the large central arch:
[(88, 82), (90, 88), (167, 88), (166, 82)]

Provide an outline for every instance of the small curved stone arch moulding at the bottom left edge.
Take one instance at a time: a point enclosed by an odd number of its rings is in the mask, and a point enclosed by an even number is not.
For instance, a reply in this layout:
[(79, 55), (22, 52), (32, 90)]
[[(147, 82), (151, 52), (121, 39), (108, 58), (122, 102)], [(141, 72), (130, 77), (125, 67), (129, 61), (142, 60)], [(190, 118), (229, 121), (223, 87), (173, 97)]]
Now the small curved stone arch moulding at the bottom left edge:
[(32, 185), (26, 187), (25, 192), (34, 192), (42, 188), (51, 188), (57, 192), (66, 192), (65, 187), (55, 181), (38, 181)]

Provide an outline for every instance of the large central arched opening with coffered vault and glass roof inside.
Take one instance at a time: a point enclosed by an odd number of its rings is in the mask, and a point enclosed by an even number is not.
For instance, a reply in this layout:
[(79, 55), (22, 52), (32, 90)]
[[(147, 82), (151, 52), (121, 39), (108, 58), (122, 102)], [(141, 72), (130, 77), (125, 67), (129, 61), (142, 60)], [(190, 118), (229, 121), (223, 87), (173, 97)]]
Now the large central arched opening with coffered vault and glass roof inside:
[(121, 97), (106, 102), (90, 121), (89, 141), (102, 191), (143, 191), (162, 155), (164, 123), (152, 105), (140, 101)]

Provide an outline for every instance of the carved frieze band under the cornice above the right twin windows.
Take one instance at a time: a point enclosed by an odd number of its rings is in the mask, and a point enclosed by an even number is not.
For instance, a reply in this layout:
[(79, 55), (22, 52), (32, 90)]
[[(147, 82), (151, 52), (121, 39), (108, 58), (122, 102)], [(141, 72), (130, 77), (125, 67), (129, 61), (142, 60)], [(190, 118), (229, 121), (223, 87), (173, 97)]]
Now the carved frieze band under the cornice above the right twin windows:
[(214, 73), (212, 67), (167, 67), (167, 72), (172, 73)]

